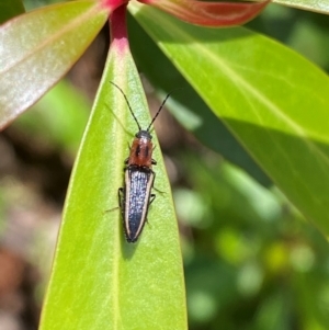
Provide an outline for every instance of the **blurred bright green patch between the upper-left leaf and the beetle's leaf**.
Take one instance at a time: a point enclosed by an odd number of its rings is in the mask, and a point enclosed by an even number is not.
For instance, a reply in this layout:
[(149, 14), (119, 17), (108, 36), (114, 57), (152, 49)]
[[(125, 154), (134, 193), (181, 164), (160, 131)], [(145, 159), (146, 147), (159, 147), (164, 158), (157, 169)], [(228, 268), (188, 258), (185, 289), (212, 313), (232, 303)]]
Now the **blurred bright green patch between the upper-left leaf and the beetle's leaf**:
[(14, 122), (16, 128), (73, 156), (82, 138), (91, 102), (67, 81), (57, 83), (31, 111)]

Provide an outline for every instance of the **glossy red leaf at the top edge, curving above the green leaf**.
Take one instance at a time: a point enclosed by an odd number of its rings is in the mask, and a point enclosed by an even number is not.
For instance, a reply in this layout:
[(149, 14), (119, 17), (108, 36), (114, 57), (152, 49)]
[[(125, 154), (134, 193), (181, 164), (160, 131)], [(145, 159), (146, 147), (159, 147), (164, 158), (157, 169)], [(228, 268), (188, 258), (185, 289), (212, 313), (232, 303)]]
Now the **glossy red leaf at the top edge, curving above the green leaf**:
[(184, 22), (205, 26), (232, 26), (257, 16), (270, 1), (208, 2), (197, 0), (139, 0)]

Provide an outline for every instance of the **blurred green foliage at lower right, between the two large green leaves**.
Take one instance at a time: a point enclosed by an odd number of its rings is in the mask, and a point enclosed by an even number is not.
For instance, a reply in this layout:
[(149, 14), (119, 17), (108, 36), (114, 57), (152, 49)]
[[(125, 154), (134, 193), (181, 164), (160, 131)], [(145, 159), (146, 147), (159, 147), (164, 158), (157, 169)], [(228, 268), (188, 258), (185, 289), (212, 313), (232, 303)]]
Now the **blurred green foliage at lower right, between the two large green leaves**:
[(275, 187), (218, 156), (180, 160), (190, 329), (327, 329), (326, 239)]

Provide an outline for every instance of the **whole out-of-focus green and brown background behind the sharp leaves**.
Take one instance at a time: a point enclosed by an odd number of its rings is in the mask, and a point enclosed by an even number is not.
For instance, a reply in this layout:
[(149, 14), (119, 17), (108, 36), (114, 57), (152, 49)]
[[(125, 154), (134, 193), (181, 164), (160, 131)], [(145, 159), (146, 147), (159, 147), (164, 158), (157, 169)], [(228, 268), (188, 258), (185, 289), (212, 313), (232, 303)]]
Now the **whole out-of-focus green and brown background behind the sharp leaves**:
[[(24, 4), (31, 10), (50, 2)], [(129, 26), (150, 111), (168, 91), (184, 88), (168, 102), (172, 114), (161, 114), (156, 132), (179, 218), (190, 329), (329, 329), (325, 237), (224, 126), (209, 130), (215, 136), (203, 130), (202, 122), (212, 118), (206, 105), (132, 18)], [(328, 16), (271, 4), (248, 26), (328, 71)], [(0, 134), (0, 330), (37, 329), (109, 41), (105, 26), (67, 77)]]

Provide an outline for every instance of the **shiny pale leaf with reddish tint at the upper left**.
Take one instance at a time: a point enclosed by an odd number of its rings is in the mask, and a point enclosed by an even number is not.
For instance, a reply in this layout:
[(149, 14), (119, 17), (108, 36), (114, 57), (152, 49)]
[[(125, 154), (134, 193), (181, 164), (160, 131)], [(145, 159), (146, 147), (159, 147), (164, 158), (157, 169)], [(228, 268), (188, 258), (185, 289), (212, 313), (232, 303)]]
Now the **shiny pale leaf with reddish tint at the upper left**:
[(0, 128), (68, 71), (107, 15), (99, 2), (73, 1), (29, 12), (0, 27)]

